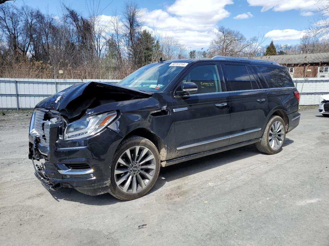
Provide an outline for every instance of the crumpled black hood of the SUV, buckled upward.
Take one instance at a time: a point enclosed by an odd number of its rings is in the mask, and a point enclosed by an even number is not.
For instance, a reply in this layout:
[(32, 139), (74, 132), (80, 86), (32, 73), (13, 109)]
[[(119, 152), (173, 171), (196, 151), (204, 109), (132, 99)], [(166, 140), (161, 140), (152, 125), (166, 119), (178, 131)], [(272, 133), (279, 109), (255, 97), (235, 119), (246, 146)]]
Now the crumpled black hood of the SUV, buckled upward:
[(36, 108), (56, 110), (67, 118), (73, 118), (82, 114), (88, 108), (97, 107), (111, 101), (146, 98), (151, 95), (153, 95), (153, 92), (90, 81), (70, 86), (51, 95), (39, 102)]

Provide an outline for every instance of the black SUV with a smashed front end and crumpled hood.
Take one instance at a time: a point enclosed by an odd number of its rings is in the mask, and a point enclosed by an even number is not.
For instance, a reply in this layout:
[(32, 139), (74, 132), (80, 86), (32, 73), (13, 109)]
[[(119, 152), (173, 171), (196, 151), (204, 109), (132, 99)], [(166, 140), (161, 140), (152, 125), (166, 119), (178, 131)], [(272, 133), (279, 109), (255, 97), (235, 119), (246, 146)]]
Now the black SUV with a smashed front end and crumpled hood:
[(161, 59), (117, 85), (80, 83), (38, 103), (29, 158), (48, 190), (131, 200), (153, 187), (161, 166), (248, 144), (278, 153), (299, 123), (298, 104), (276, 62)]

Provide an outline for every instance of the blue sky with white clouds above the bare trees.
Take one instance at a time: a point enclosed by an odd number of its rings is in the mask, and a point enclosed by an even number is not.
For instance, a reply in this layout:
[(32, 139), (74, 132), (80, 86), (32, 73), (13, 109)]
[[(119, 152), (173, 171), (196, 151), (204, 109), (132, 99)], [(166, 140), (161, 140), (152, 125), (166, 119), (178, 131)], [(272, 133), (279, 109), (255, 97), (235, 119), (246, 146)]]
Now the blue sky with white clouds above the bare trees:
[[(88, 15), (84, 0), (66, 0), (67, 5)], [(91, 1), (92, 2), (92, 1)], [(122, 0), (100, 0), (104, 20), (117, 10), (121, 14)], [(274, 43), (296, 44), (304, 35), (310, 22), (317, 19), (313, 13), (316, 0), (139, 0), (144, 13), (146, 28), (156, 30), (162, 36), (174, 36), (192, 49), (208, 48), (218, 26), (238, 30), (247, 38), (266, 34), (267, 45)], [(41, 11), (58, 15), (60, 1), (16, 0), (15, 5), (25, 3)], [(88, 1), (90, 3), (90, 1)], [(107, 6), (111, 3), (109, 6)]]

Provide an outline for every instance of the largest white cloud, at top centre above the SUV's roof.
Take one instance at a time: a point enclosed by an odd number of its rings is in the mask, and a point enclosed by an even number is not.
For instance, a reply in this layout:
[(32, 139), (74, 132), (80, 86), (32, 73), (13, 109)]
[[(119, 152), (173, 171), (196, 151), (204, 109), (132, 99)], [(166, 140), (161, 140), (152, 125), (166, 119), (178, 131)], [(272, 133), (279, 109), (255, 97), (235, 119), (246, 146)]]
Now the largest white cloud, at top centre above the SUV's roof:
[(232, 0), (176, 0), (165, 10), (142, 9), (143, 19), (149, 28), (162, 36), (178, 38), (182, 44), (192, 48), (207, 47), (215, 38), (217, 22), (230, 13), (225, 6)]

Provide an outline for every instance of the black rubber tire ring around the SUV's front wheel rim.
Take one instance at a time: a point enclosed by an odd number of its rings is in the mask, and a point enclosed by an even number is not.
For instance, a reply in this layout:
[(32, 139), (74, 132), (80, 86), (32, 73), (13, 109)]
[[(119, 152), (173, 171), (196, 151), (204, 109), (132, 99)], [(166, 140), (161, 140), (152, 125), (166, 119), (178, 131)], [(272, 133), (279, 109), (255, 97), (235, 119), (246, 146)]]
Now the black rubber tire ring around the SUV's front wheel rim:
[[(133, 200), (133, 199), (139, 198), (139, 197), (145, 195), (146, 193), (148, 193), (152, 189), (154, 184), (156, 183), (158, 176), (159, 176), (159, 172), (160, 172), (159, 152), (158, 152), (157, 148), (155, 147), (155, 145), (151, 141), (149, 141), (148, 139), (143, 138), (143, 137), (135, 136), (132, 138), (133, 139), (119, 145), (119, 147), (117, 148), (117, 150), (114, 154), (113, 162), (111, 164), (110, 190), (112, 192), (112, 195), (114, 195), (115, 197), (122, 199), (122, 200)], [(127, 149), (132, 148), (137, 145), (148, 148), (154, 155), (155, 162), (156, 162), (155, 177), (153, 178), (151, 183), (148, 185), (148, 187), (146, 187), (144, 190), (142, 190), (136, 194), (127, 194), (127, 193), (124, 193), (123, 191), (121, 191), (121, 189), (119, 187), (117, 187), (117, 185), (115, 183), (115, 177), (114, 177), (115, 165), (116, 165), (116, 162), (118, 161), (119, 157), (121, 156), (121, 154), (123, 154)]]

